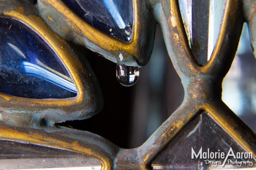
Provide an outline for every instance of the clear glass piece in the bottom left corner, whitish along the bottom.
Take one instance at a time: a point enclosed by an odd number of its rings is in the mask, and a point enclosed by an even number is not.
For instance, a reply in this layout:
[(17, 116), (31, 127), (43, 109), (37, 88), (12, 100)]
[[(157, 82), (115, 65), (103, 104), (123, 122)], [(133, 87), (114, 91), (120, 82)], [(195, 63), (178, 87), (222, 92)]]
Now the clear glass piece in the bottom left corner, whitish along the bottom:
[(0, 140), (0, 169), (100, 170), (97, 159), (76, 152)]

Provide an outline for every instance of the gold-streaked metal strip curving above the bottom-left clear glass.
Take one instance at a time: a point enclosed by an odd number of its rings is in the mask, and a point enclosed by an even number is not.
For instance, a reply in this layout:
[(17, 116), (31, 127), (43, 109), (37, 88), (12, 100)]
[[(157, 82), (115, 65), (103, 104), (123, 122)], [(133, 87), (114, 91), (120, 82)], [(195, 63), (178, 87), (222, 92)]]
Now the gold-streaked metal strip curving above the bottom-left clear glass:
[(107, 170), (113, 166), (113, 160), (118, 152), (116, 145), (90, 132), (56, 128), (48, 128), (50, 132), (45, 132), (35, 129), (6, 128), (6, 125), (2, 123), (0, 129), (1, 139), (29, 142), (94, 157), (102, 163), (102, 170)]

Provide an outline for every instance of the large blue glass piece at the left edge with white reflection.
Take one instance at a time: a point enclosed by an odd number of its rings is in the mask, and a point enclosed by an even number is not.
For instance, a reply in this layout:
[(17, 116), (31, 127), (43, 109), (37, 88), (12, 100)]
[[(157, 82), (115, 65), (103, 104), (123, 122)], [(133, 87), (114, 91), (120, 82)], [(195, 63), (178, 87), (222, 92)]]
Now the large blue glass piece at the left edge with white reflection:
[(77, 88), (43, 38), (12, 18), (0, 18), (0, 92), (23, 98), (69, 98)]

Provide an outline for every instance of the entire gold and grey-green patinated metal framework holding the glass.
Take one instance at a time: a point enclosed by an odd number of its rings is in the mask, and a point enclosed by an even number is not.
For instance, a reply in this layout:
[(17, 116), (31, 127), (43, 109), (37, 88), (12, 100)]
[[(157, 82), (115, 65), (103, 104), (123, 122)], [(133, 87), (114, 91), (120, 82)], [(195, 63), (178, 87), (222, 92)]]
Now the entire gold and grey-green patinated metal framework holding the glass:
[[(24, 2), (26, 3), (24, 4)], [(103, 170), (150, 170), (152, 161), (161, 154), (161, 151), (174, 139), (175, 135), (181, 132), (197, 115), (207, 112), (208, 116), (220, 125), (242, 149), (252, 152), (254, 160), (256, 159), (256, 134), (221, 100), (222, 80), (233, 61), (242, 24), (245, 21), (249, 23), (252, 46), (256, 46), (256, 3), (253, 0), (227, 0), (217, 43), (211, 59), (205, 65), (199, 65), (193, 56), (177, 0), (134, 0), (134, 39), (130, 43), (120, 42), (94, 29), (84, 20), (75, 16), (75, 13), (61, 1), (38, 0), (36, 7), (30, 2), (24, 2), (8, 3), (8, 1), (2, 0), (1, 15), (25, 22), (49, 42), (54, 51), (64, 60), (81, 97), (71, 101), (37, 101), (0, 94), (1, 114), (3, 114), (3, 119), (0, 121), (1, 139), (29, 142), (86, 154), (98, 159), (102, 163)], [(67, 117), (68, 112), (72, 113), (90, 107), (90, 105), (82, 105), (82, 102), (86, 101), (82, 97), (86, 92), (83, 80), (93, 82), (94, 80), (83, 77), (85, 73), (81, 72), (82, 66), (76, 59), (75, 61), (71, 60), (70, 55), (73, 53), (66, 42), (52, 33), (41, 18), (62, 38), (84, 45), (114, 62), (116, 62), (116, 56), (122, 53), (125, 64), (133, 66), (145, 65), (149, 60), (153, 41), (152, 34), (156, 22), (158, 22), (161, 25), (172, 64), (184, 86), (183, 103), (143, 145), (134, 149), (119, 148), (110, 141), (90, 132), (55, 127), (54, 123), (57, 121), (75, 119), (77, 115), (70, 114)], [(155, 18), (156, 21), (152, 21), (152, 18)], [(92, 96), (89, 98), (99, 96), (94, 90), (90, 94)], [(96, 103), (98, 104), (98, 102)], [(29, 123), (32, 121), (33, 115), (31, 110), (43, 110), (46, 107), (52, 108), (53, 112), (61, 108), (65, 110), (66, 114), (59, 116), (59, 119), (50, 119), (52, 124), (40, 124), (40, 121), (35, 120), (31, 125)], [(8, 108), (17, 108), (16, 110), (26, 113), (27, 116), (18, 119), (16, 117), (18, 112)], [(94, 105), (93, 108), (95, 109), (92, 112), (94, 114), (99, 106)], [(53, 113), (50, 112), (46, 115), (50, 116)], [(26, 123), (29, 125), (25, 126)]]

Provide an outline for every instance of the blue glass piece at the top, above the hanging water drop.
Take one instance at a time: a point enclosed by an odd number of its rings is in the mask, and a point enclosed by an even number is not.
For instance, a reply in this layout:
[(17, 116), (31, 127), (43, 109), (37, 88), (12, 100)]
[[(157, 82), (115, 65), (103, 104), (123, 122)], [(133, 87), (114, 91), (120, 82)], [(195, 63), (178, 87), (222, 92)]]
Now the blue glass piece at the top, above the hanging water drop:
[(133, 0), (63, 0), (77, 15), (100, 31), (131, 41)]

